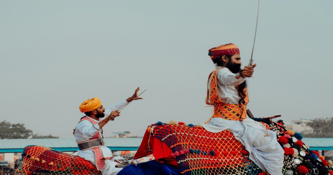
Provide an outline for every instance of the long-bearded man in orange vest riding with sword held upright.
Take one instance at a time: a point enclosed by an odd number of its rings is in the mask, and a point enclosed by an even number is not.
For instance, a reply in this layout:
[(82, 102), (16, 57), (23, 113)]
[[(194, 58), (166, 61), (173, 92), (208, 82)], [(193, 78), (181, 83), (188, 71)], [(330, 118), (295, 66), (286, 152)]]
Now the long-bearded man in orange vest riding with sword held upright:
[(208, 50), (216, 69), (208, 77), (206, 104), (214, 106), (213, 116), (201, 124), (210, 132), (230, 130), (249, 152), (249, 158), (267, 175), (282, 175), (284, 151), (276, 133), (261, 123), (246, 118), (248, 103), (245, 77), (252, 66), (241, 69), (239, 49), (225, 44)]

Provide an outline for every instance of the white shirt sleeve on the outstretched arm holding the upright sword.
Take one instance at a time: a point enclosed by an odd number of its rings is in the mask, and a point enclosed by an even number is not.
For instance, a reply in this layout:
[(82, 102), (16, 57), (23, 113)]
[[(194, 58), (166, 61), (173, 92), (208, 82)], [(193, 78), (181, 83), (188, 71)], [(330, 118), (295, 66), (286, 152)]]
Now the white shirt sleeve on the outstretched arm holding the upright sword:
[(236, 74), (232, 73), (228, 68), (221, 68), (217, 72), (217, 79), (226, 86), (236, 86), (245, 81), (243, 77), (237, 79)]

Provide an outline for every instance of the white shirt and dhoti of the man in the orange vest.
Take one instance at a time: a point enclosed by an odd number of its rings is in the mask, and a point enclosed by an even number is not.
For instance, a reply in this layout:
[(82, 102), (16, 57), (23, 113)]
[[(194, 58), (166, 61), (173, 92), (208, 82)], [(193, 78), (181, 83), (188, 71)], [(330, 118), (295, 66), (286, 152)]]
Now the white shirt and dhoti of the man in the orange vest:
[[(217, 72), (218, 94), (221, 101), (227, 104), (238, 104), (238, 91), (235, 86), (245, 81), (244, 78), (236, 79), (235, 74), (227, 68)], [(208, 81), (210, 91), (210, 80)], [(263, 171), (271, 175), (282, 175), (284, 151), (276, 140), (276, 133), (252, 119), (243, 121), (225, 120), (223, 118), (211, 118), (205, 124), (200, 124), (209, 132), (221, 132), (230, 130), (249, 152), (249, 158)], [(269, 136), (265, 136), (264, 132)]]

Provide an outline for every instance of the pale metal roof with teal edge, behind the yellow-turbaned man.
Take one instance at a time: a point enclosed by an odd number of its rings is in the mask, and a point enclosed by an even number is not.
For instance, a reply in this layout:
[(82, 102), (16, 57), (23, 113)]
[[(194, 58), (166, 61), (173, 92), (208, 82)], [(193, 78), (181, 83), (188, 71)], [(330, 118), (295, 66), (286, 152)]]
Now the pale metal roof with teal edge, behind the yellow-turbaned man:
[[(138, 150), (142, 138), (104, 138), (105, 146), (111, 150)], [(77, 151), (78, 145), (71, 139), (0, 139), (0, 153), (23, 152), (28, 145), (38, 145), (57, 151)]]

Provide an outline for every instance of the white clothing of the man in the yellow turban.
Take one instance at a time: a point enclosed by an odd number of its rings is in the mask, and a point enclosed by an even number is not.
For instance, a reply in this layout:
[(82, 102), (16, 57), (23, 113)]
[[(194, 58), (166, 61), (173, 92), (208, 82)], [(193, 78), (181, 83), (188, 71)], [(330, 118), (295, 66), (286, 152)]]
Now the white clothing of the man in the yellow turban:
[[(127, 101), (124, 100), (115, 105), (109, 106), (107, 109), (105, 109), (105, 112), (104, 112), (105, 117), (108, 117), (112, 111), (120, 110), (127, 104), (128, 104)], [(94, 119), (92, 119), (92, 120), (94, 120)], [(95, 121), (97, 123), (99, 123), (98, 120), (95, 120)], [(93, 125), (88, 120), (81, 121), (75, 127), (75, 133), (74, 133), (75, 141), (77, 143), (82, 142), (82, 141), (87, 141), (87, 140), (91, 139), (92, 137), (94, 137), (95, 134), (99, 131), (101, 131), (101, 129), (98, 124)], [(100, 132), (100, 137), (102, 138), (101, 132)], [(101, 146), (100, 148), (102, 150), (104, 157), (112, 157), (112, 152), (108, 147)], [(93, 152), (92, 149), (85, 150), (85, 151), (78, 150), (78, 156), (82, 157), (86, 160), (89, 160), (91, 163), (93, 163), (96, 166), (95, 153)], [(105, 160), (105, 166), (101, 169), (101, 172), (103, 175), (115, 175), (120, 170), (122, 170), (122, 168), (115, 167), (115, 165), (117, 165), (117, 163), (114, 161), (115, 159), (123, 159), (123, 158), (117, 156), (117, 157), (114, 157), (113, 159)]]

